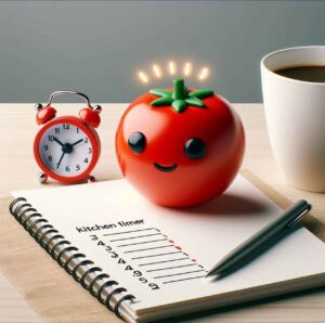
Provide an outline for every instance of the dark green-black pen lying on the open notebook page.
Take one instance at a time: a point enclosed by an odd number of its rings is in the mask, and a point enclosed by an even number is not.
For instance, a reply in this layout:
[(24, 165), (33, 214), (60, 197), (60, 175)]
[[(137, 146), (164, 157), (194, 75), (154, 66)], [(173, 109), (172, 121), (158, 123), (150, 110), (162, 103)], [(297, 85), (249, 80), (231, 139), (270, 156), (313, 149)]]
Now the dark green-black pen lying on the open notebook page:
[(216, 279), (221, 279), (239, 269), (249, 258), (252, 257), (252, 255), (258, 254), (259, 250), (262, 250), (274, 237), (288, 234), (290, 232), (289, 229), (299, 222), (310, 209), (311, 205), (307, 201), (298, 201), (290, 208), (286, 209), (275, 221), (262, 228), (260, 231), (227, 254), (224, 258), (222, 258), (208, 272), (207, 276), (216, 276)]

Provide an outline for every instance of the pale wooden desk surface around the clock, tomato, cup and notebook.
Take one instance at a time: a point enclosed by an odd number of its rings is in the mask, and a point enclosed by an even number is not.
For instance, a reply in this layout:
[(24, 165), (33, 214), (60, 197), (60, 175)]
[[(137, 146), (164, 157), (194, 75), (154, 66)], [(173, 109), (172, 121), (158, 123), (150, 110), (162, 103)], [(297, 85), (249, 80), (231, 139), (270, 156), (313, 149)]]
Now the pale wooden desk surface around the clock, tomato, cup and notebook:
[[(127, 104), (102, 104), (102, 156), (93, 175), (98, 180), (120, 177), (114, 152), (114, 135)], [(57, 104), (60, 115), (77, 115), (80, 104)], [(280, 176), (268, 139), (262, 104), (235, 104), (246, 130), (247, 148), (243, 167), (250, 169), (290, 199), (307, 198), (313, 215), (325, 222), (325, 194), (298, 191), (285, 184)], [(41, 185), (39, 169), (32, 156), (32, 142), (39, 127), (34, 104), (0, 104), (0, 197), (13, 190)], [(0, 250), (1, 251), (1, 250)], [(41, 322), (16, 288), (0, 272), (0, 322)], [(324, 289), (253, 307), (240, 308), (208, 316), (193, 316), (186, 322), (325, 322)]]

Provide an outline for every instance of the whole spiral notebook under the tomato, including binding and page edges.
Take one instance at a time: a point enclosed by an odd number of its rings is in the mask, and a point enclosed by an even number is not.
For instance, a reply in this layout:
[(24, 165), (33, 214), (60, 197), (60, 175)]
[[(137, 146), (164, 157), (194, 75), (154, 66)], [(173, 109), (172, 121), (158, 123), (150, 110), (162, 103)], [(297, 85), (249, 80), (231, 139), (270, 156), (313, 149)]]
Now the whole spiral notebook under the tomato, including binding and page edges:
[(99, 301), (150, 322), (325, 284), (324, 243), (301, 228), (237, 272), (206, 279), (218, 259), (281, 214), (238, 176), (187, 209), (144, 199), (125, 180), (13, 192), (11, 214)]

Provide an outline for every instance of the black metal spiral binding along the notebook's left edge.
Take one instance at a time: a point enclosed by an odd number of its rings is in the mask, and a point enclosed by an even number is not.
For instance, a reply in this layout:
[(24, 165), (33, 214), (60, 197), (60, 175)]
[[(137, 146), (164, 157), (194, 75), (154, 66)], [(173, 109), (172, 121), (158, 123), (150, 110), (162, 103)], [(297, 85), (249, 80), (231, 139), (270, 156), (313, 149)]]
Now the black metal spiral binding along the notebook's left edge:
[[(47, 253), (75, 279), (75, 281), (80, 283), (83, 288), (88, 289), (89, 293), (96, 297), (109, 311), (114, 312), (117, 316), (122, 318), (119, 312), (120, 306), (126, 300), (134, 301), (135, 297), (133, 295), (128, 294), (128, 290), (123, 287), (115, 287), (112, 289), (112, 286), (117, 286), (118, 282), (109, 280), (110, 276), (107, 273), (102, 273), (103, 270), (100, 267), (95, 267), (93, 261), (84, 259), (86, 256), (79, 253), (77, 247), (72, 246), (70, 242), (65, 240), (41, 214), (37, 212), (26, 198), (15, 198), (11, 203), (9, 209), (11, 215), (15, 217), (27, 232), (29, 232), (35, 241), (44, 248)], [(52, 247), (50, 247), (51, 243), (53, 244)], [(61, 247), (60, 251), (57, 251), (58, 247)], [(66, 258), (65, 260), (63, 259), (64, 257)], [(73, 259), (80, 261), (70, 269), (69, 264)], [(81, 276), (78, 276), (77, 274), (78, 269), (83, 269)], [(92, 273), (98, 274), (94, 277), (91, 277), (90, 274)], [(86, 281), (87, 277), (91, 279), (89, 283)], [(100, 281), (103, 281), (103, 283), (100, 284), (98, 290), (95, 290), (94, 285), (96, 283), (99, 284)], [(110, 289), (108, 289), (109, 287)], [(106, 296), (103, 298), (102, 294), (104, 292), (106, 293)], [(116, 299), (118, 295), (121, 297)], [(110, 305), (113, 297), (116, 299), (114, 306)]]

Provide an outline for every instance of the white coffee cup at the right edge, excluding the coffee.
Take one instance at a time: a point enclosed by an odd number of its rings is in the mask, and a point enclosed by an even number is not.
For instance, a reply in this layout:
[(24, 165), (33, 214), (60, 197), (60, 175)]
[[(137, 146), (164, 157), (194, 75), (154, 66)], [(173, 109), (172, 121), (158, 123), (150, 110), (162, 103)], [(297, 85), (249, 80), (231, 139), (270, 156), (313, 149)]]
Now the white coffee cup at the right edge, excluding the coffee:
[(299, 65), (325, 65), (325, 46), (284, 49), (261, 61), (269, 137), (276, 164), (289, 184), (325, 192), (325, 82), (274, 73)]

